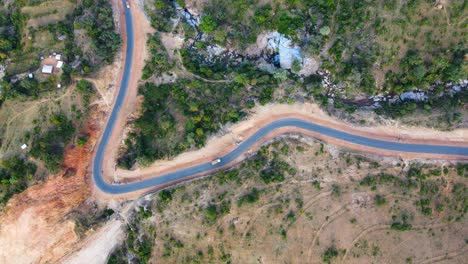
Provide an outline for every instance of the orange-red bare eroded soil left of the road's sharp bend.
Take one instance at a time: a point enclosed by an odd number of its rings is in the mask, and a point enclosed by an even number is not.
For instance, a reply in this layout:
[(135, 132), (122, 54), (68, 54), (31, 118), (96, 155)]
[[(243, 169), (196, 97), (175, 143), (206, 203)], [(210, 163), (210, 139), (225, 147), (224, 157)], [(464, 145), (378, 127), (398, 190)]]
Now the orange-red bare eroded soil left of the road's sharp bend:
[[(94, 121), (83, 131), (89, 142), (66, 150), (62, 172), (8, 202), (0, 216), (0, 262), (54, 262), (79, 241), (74, 221), (65, 216), (90, 196), (87, 168), (98, 131)], [(74, 175), (66, 177), (67, 172)]]

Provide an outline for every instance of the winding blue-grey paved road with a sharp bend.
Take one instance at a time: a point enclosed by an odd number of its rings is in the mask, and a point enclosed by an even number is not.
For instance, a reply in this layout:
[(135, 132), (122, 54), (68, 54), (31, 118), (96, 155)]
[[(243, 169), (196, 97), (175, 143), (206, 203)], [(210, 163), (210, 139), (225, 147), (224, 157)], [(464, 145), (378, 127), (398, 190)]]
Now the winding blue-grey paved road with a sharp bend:
[[(125, 6), (125, 5), (124, 5)], [(193, 167), (181, 169), (172, 173), (167, 173), (163, 175), (155, 175), (154, 178), (147, 180), (142, 180), (139, 182), (122, 184), (122, 185), (112, 185), (104, 181), (102, 177), (102, 162), (104, 159), (104, 152), (108, 145), (110, 135), (112, 130), (115, 127), (115, 123), (119, 114), (119, 111), (122, 107), (124, 98), (126, 96), (126, 91), (128, 88), (128, 82), (132, 66), (132, 55), (133, 55), (133, 24), (132, 24), (132, 15), (130, 10), (125, 8), (125, 22), (127, 28), (127, 50), (126, 50), (126, 60), (124, 66), (124, 73), (122, 78), (121, 87), (119, 94), (112, 109), (111, 115), (107, 122), (104, 134), (98, 145), (96, 155), (93, 162), (93, 179), (96, 186), (103, 192), (109, 194), (124, 194), (133, 191), (148, 189), (157, 185), (168, 184), (171, 182), (181, 181), (187, 179), (191, 176), (208, 173), (212, 170), (219, 169), (229, 163), (233, 162), (237, 157), (245, 153), (249, 148), (259, 142), (264, 138), (268, 133), (273, 130), (282, 128), (282, 127), (297, 127), (320, 134), (324, 134), (336, 139), (348, 141), (350, 143), (359, 144), (372, 148), (379, 148), (390, 151), (397, 152), (406, 152), (406, 153), (425, 153), (425, 154), (440, 154), (440, 155), (456, 155), (456, 156), (467, 156), (468, 157), (468, 147), (457, 147), (457, 146), (441, 146), (441, 145), (425, 145), (425, 144), (408, 144), (408, 143), (398, 143), (391, 141), (382, 141), (377, 139), (372, 139), (368, 137), (358, 136), (349, 134), (343, 131), (335, 130), (329, 127), (321, 126), (309, 121), (304, 121), (301, 119), (281, 119), (274, 121), (262, 128), (260, 128), (255, 134), (243, 141), (236, 149), (229, 152), (225, 156), (221, 157), (221, 162), (212, 165), (210, 162), (202, 163)]]

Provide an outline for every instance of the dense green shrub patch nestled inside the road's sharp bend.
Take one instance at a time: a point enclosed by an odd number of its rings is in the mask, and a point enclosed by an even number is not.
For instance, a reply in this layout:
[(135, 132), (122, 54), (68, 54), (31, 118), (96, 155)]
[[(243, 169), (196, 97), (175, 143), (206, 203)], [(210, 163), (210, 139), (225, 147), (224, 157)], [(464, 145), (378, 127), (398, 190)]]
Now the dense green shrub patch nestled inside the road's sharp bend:
[[(261, 74), (256, 76), (268, 77)], [(191, 147), (202, 147), (207, 136), (221, 125), (244, 117), (249, 100), (268, 100), (265, 90), (271, 89), (272, 82), (260, 77), (252, 89), (235, 82), (205, 83), (196, 79), (159, 86), (146, 83), (140, 88), (145, 98), (142, 115), (129, 134), (119, 166), (130, 168), (137, 160), (147, 165)]]

